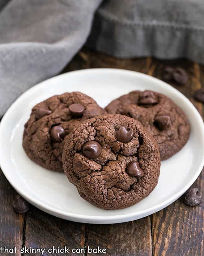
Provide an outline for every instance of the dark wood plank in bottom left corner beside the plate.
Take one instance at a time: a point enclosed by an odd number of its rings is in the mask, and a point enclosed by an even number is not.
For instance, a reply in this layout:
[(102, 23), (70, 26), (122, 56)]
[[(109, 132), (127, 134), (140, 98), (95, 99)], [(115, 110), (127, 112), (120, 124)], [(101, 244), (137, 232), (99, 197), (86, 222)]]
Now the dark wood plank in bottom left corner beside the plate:
[[(15, 213), (12, 209), (15, 194), (15, 190), (0, 169), (0, 248), (4, 248), (4, 246), (8, 249), (17, 248), (15, 254), (5, 254), (0, 251), (1, 255), (21, 255), (20, 248), (23, 245), (25, 215)], [(10, 253), (12, 252), (10, 251)]]

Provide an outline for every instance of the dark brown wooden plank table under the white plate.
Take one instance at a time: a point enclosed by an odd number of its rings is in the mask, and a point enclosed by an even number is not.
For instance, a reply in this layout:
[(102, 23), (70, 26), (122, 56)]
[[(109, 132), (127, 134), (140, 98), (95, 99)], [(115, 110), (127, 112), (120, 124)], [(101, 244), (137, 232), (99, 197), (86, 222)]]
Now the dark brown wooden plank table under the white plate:
[[(197, 107), (203, 116), (202, 103), (193, 100), (193, 92), (204, 87), (204, 66), (187, 60), (163, 61), (149, 58), (117, 59), (87, 49), (80, 51), (63, 72), (85, 68), (121, 68), (143, 72), (161, 79), (164, 65), (183, 67), (189, 75), (185, 86), (177, 86)], [(15, 174), (14, 174), (15, 175)], [(203, 193), (203, 172), (194, 186)], [(140, 220), (112, 224), (94, 225), (70, 222), (53, 217), (41, 210), (30, 207), (27, 214), (16, 214), (12, 210), (15, 191), (0, 170), (0, 247), (22, 248), (84, 248), (85, 253), (69, 255), (99, 255), (87, 252), (91, 248), (106, 248), (110, 256), (197, 256), (202, 255), (203, 204), (186, 206), (181, 199), (167, 208)], [(19, 250), (16, 254), (21, 255)], [(22, 254), (23, 255), (23, 254)], [(40, 254), (24, 254), (40, 255)], [(63, 253), (44, 255), (68, 255)], [(101, 255), (101, 254), (100, 254)]]

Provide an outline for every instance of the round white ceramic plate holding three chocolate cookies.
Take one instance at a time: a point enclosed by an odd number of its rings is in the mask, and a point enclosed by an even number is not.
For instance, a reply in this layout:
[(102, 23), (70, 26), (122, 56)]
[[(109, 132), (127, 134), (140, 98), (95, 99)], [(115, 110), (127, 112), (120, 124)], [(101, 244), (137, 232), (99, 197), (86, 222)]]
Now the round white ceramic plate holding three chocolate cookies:
[[(65, 174), (33, 163), (22, 147), (23, 126), (36, 103), (55, 94), (79, 91), (101, 107), (133, 90), (151, 89), (170, 97), (187, 115), (191, 133), (177, 154), (161, 163), (154, 191), (126, 209), (103, 210), (83, 200)], [(20, 195), (41, 210), (57, 217), (87, 223), (118, 223), (155, 213), (180, 197), (196, 180), (204, 164), (204, 125), (198, 111), (179, 91), (146, 74), (117, 69), (69, 72), (46, 80), (23, 93), (0, 123), (0, 165)]]

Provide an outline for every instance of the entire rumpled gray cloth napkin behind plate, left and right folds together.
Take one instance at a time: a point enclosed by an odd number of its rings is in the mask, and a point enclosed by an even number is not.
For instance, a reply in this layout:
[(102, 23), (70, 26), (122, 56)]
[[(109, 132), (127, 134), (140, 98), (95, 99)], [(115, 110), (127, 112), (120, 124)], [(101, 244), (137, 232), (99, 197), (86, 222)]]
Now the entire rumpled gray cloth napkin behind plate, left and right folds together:
[(204, 63), (203, 0), (101, 2), (0, 0), (0, 118), (20, 94), (58, 74), (85, 42), (117, 57)]

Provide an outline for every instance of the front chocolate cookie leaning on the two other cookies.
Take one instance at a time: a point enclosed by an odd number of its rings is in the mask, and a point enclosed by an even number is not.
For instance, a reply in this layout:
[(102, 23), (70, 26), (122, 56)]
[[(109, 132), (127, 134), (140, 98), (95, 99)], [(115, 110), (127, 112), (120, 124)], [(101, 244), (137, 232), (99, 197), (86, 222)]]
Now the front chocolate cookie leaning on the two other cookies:
[(135, 119), (102, 115), (75, 128), (64, 146), (64, 171), (80, 196), (103, 209), (138, 203), (155, 188), (158, 145)]

